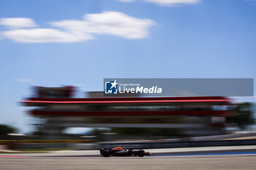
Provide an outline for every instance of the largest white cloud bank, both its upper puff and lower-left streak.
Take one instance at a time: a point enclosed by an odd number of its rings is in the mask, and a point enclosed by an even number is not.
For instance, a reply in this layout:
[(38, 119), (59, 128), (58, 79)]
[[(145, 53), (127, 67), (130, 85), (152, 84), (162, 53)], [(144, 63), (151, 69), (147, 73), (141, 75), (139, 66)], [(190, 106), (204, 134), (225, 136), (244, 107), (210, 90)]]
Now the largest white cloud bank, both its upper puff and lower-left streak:
[(94, 34), (110, 34), (124, 39), (143, 39), (153, 20), (133, 18), (122, 12), (84, 15), (83, 20), (60, 20), (49, 23), (56, 28), (28, 28), (4, 31), (3, 36), (15, 42), (81, 42)]

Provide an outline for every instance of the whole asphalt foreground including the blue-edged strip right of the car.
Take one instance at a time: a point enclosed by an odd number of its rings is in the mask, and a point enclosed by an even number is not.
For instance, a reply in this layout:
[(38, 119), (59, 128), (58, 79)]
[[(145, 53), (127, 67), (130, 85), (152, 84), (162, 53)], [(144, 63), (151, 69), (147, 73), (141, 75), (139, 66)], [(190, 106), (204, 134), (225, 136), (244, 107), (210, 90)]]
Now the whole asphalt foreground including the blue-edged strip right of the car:
[(0, 154), (0, 169), (256, 169), (255, 149), (154, 152), (154, 156)]

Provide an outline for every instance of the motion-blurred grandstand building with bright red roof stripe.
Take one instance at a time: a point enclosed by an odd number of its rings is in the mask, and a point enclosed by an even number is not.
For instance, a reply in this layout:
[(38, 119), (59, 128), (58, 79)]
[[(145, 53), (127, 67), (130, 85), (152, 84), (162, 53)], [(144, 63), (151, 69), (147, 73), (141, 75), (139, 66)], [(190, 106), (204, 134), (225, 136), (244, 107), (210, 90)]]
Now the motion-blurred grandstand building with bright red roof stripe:
[[(34, 96), (20, 101), (31, 107), (48, 134), (65, 128), (178, 128), (189, 136), (225, 133), (229, 98), (223, 96), (75, 98), (75, 87), (34, 87)], [(91, 93), (91, 94), (96, 94)]]

